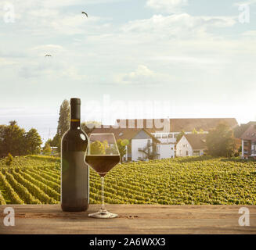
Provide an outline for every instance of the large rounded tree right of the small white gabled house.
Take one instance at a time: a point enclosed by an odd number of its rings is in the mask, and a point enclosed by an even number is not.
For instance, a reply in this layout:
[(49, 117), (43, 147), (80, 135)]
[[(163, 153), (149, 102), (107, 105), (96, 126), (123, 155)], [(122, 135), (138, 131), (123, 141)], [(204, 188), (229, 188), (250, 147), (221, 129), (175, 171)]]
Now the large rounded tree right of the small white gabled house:
[(219, 123), (214, 130), (210, 130), (206, 142), (208, 153), (212, 156), (231, 157), (236, 149), (233, 130), (225, 123)]

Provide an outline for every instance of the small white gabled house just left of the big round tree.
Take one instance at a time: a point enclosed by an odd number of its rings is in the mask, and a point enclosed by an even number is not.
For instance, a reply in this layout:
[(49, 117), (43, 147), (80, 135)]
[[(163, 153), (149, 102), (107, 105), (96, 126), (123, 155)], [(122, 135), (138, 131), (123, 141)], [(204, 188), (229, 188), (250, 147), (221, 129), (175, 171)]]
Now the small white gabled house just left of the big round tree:
[(176, 155), (204, 155), (206, 149), (206, 134), (184, 134), (176, 145)]

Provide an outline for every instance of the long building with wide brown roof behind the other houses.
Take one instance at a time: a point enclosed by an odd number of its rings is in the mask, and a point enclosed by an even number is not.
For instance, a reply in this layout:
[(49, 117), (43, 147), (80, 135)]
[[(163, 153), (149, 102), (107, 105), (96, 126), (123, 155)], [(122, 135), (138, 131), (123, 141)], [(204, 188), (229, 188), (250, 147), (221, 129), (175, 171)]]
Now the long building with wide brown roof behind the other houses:
[(126, 119), (117, 120), (122, 128), (144, 128), (160, 141), (160, 152), (168, 154), (168, 158), (175, 157), (176, 137), (183, 130), (185, 134), (203, 130), (207, 134), (217, 127), (218, 123), (226, 123), (231, 129), (238, 126), (235, 118), (177, 118), (177, 119)]

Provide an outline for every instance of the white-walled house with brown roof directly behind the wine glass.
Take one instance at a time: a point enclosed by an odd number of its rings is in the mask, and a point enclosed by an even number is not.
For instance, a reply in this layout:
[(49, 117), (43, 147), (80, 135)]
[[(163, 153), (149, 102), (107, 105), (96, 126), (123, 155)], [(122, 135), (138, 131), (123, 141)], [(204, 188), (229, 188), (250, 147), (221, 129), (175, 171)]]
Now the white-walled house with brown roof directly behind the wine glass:
[(92, 134), (98, 133), (113, 133), (116, 140), (129, 141), (126, 146), (126, 155), (123, 157), (124, 161), (160, 159), (160, 141), (142, 128), (116, 128), (105, 125), (92, 130)]

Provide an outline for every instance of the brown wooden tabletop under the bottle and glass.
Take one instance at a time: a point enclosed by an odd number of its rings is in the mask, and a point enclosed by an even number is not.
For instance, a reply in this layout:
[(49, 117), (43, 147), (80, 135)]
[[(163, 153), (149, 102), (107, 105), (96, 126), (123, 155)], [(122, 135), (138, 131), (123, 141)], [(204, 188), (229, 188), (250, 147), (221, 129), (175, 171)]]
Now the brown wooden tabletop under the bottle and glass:
[[(15, 226), (5, 227), (5, 207), (15, 210)], [(93, 219), (87, 212), (63, 213), (59, 205), (0, 205), (0, 234), (256, 234), (256, 205), (250, 226), (238, 223), (242, 205), (106, 205), (115, 219)]]

